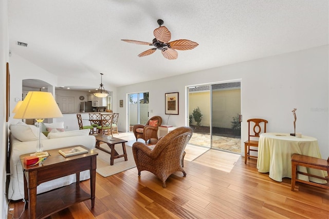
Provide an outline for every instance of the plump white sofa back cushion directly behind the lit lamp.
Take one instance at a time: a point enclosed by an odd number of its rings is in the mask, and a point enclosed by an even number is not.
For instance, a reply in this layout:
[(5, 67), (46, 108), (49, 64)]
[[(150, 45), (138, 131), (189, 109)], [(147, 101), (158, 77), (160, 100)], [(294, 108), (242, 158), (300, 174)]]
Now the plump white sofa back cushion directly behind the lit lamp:
[[(10, 125), (10, 133), (20, 141), (36, 141), (38, 137), (38, 127), (28, 125), (19, 121), (17, 124)], [(44, 134), (41, 134), (41, 139), (47, 139)]]

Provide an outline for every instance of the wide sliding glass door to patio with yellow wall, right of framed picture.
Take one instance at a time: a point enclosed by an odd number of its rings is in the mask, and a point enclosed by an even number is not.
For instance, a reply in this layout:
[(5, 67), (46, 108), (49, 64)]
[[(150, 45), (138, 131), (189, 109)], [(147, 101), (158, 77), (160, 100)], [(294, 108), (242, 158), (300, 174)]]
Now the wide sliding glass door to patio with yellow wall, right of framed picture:
[(188, 88), (190, 144), (241, 153), (241, 82)]

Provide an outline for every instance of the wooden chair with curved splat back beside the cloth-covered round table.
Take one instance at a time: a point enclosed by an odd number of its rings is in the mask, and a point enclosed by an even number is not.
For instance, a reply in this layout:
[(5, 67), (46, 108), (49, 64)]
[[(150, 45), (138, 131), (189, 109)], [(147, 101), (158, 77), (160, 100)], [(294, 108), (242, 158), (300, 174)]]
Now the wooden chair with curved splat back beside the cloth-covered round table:
[[(257, 158), (258, 156), (251, 155), (250, 152), (258, 152), (258, 139), (261, 133), (266, 133), (267, 120), (265, 119), (248, 119), (248, 140), (245, 141), (245, 163), (247, 158)], [(262, 129), (263, 126), (263, 129)], [(251, 128), (251, 129), (250, 129)], [(250, 148), (252, 147), (252, 148)]]

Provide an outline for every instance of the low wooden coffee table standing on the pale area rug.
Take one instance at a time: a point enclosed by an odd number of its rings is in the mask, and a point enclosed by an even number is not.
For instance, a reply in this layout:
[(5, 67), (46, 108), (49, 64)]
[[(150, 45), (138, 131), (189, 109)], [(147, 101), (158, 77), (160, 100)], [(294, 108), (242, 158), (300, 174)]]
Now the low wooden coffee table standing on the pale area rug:
[[(107, 135), (95, 135), (96, 137), (96, 148), (104, 151), (107, 154), (111, 154), (111, 165), (114, 164), (114, 159), (120, 158), (120, 157), (124, 157), (124, 160), (127, 161), (128, 157), (127, 157), (127, 152), (125, 150), (125, 142), (127, 142), (126, 140), (120, 139), (120, 138), (115, 138), (112, 136), (107, 136)], [(108, 147), (111, 149), (111, 151), (107, 151), (106, 149), (103, 149), (99, 146), (100, 142), (104, 142), (108, 145)], [(118, 154), (118, 152), (114, 149), (114, 145), (115, 144), (122, 144), (122, 150), (123, 150), (123, 154)]]

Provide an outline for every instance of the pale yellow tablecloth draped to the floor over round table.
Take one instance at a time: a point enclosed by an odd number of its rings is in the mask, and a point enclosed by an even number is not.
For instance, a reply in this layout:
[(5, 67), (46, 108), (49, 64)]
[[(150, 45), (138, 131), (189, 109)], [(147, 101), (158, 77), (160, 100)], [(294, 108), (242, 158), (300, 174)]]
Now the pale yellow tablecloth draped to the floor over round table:
[[(269, 177), (282, 181), (283, 177), (291, 178), (291, 156), (302, 154), (321, 158), (318, 140), (309, 136), (297, 138), (287, 133), (263, 133), (258, 143), (257, 169), (259, 172), (268, 173)], [(324, 176), (326, 172), (298, 167), (301, 172)], [(298, 174), (298, 178), (325, 184), (325, 180)]]

